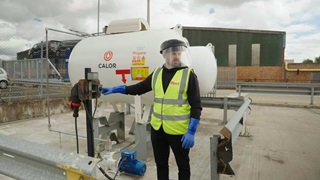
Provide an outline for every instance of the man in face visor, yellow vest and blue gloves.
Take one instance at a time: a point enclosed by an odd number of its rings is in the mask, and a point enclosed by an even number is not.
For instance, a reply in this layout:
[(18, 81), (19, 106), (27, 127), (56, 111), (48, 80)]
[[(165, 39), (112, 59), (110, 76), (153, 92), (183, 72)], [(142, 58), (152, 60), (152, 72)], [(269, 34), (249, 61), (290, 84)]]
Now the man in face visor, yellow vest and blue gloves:
[(151, 141), (157, 165), (158, 180), (169, 179), (170, 147), (174, 153), (179, 180), (190, 179), (189, 150), (201, 115), (199, 83), (193, 70), (181, 62), (186, 44), (171, 39), (161, 44), (160, 53), (165, 64), (157, 68), (144, 81), (131, 86), (102, 88), (102, 93), (141, 95), (154, 91), (151, 116)]

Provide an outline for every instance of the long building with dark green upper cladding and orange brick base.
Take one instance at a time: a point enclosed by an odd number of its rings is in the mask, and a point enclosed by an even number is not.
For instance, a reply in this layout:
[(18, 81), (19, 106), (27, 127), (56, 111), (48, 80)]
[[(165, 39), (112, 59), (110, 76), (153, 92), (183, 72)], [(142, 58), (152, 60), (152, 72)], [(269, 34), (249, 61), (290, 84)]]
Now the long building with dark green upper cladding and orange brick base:
[[(212, 44), (218, 85), (236, 82), (320, 82), (320, 65), (285, 63), (286, 32), (212, 27), (183, 27), (190, 46)], [(221, 84), (220, 84), (221, 85)], [(230, 86), (231, 85), (231, 86)]]

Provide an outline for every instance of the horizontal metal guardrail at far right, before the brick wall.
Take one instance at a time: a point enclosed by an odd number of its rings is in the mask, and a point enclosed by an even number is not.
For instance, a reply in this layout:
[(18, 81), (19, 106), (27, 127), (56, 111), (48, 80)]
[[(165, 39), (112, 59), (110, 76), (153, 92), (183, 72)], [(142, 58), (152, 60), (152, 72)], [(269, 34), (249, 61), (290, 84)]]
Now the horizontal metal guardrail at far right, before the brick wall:
[(320, 95), (320, 83), (263, 83), (263, 82), (238, 82), (237, 91), (259, 93), (284, 93), (310, 95), (310, 105), (313, 105), (315, 95)]

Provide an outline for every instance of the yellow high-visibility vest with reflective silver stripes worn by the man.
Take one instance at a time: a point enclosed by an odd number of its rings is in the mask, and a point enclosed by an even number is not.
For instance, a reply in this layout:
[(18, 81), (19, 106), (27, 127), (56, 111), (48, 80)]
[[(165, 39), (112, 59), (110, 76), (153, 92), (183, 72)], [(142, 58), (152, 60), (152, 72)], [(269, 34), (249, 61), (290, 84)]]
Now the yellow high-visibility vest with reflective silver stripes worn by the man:
[(166, 93), (163, 92), (162, 72), (162, 68), (157, 68), (152, 75), (154, 103), (151, 126), (158, 130), (162, 124), (167, 134), (185, 134), (190, 121), (187, 89), (191, 70), (178, 70), (171, 79)]

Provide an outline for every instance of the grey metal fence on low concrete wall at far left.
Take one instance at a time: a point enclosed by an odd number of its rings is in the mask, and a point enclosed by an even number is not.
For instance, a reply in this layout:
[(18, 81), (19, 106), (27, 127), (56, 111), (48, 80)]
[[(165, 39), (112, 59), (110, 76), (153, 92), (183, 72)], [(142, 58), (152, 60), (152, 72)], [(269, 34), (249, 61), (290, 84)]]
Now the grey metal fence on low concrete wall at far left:
[(58, 74), (52, 74), (53, 66), (47, 59), (5, 61), (9, 86), (0, 89), (0, 101), (42, 99), (47, 96), (68, 97), (71, 85), (62, 82)]

